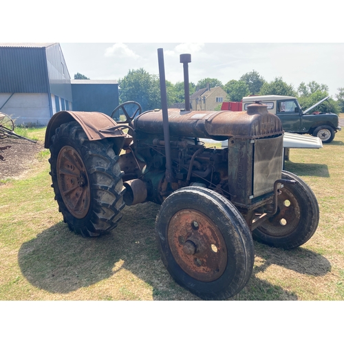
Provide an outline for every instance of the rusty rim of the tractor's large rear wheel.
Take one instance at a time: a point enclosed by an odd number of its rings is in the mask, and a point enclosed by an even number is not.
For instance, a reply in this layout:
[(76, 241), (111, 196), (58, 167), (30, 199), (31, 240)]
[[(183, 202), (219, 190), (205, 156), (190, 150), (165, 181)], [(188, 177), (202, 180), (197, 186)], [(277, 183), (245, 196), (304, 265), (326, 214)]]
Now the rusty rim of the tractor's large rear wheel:
[(85, 164), (73, 147), (65, 146), (58, 153), (57, 181), (69, 213), (77, 219), (85, 217), (89, 211), (91, 189)]

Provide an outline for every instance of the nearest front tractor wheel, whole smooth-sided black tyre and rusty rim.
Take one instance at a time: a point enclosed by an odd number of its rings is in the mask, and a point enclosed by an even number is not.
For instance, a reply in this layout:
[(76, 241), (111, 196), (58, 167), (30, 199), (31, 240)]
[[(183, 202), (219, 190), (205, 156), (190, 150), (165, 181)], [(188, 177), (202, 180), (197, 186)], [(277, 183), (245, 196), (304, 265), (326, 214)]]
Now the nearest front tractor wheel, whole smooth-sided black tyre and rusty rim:
[(169, 195), (155, 233), (171, 277), (202, 299), (233, 297), (250, 279), (250, 230), (237, 208), (214, 191), (188, 186)]

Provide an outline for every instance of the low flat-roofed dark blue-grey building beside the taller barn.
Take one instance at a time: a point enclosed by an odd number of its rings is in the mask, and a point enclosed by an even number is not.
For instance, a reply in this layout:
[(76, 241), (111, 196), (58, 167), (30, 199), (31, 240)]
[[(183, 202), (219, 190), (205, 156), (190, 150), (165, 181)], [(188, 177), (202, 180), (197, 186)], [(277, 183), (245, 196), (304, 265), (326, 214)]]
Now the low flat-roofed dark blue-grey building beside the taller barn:
[(118, 107), (119, 94), (116, 80), (71, 80), (73, 109), (75, 111), (98, 111), (111, 116)]

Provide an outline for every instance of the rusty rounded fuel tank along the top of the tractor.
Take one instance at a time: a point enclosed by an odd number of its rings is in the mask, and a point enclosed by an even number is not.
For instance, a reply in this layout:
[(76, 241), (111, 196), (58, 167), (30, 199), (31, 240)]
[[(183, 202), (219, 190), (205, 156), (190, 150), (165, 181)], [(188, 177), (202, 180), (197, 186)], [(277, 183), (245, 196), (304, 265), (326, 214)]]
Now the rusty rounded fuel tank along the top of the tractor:
[[(162, 111), (148, 111), (133, 125), (143, 133), (163, 134)], [(247, 111), (182, 111), (169, 109), (170, 136), (211, 138), (264, 138), (283, 133), (281, 120), (263, 104), (252, 104)]]

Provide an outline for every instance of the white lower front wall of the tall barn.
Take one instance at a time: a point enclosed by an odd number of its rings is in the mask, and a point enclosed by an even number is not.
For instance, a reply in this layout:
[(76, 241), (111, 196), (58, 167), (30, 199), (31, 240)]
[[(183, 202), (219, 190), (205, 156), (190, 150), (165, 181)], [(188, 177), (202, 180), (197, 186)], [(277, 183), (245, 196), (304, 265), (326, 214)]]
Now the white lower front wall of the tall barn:
[[(10, 95), (10, 93), (0, 94), (0, 107)], [(47, 125), (50, 120), (49, 98), (45, 93), (15, 93), (0, 112), (11, 116), (15, 125), (28, 123)]]

